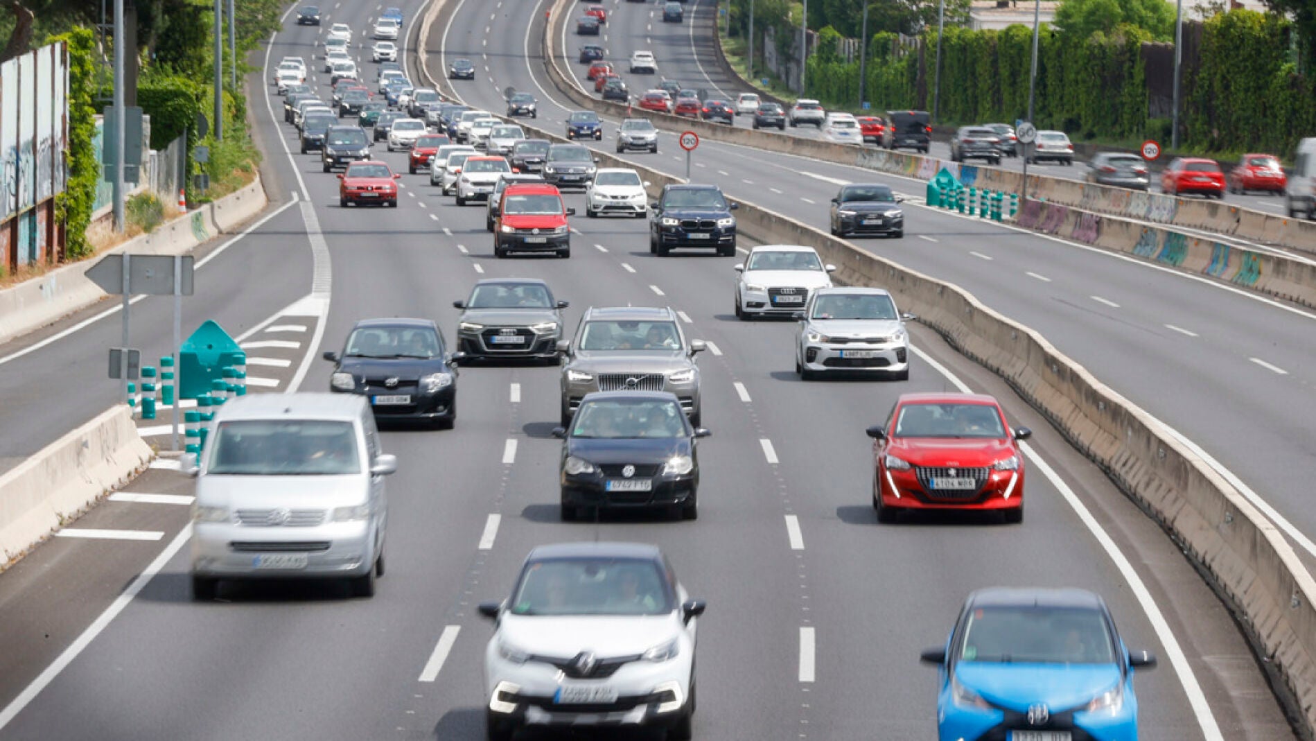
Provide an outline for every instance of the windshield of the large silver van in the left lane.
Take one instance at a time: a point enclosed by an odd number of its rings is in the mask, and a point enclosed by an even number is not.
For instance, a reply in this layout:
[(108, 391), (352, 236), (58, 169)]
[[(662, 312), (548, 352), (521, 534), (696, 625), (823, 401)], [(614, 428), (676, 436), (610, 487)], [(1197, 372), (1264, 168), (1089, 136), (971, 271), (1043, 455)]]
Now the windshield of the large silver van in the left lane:
[(351, 422), (236, 420), (220, 422), (207, 474), (345, 475), (361, 473)]

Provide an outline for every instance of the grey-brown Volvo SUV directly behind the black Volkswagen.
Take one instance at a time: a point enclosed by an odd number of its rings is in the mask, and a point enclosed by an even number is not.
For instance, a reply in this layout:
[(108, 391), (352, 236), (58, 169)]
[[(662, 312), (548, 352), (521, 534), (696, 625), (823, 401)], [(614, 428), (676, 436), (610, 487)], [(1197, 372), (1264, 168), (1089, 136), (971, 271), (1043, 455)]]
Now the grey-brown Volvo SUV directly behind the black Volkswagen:
[(687, 342), (671, 308), (591, 307), (575, 338), (558, 342), (562, 365), (562, 425), (594, 391), (669, 391), (690, 424), (700, 425), (699, 367), (703, 340)]

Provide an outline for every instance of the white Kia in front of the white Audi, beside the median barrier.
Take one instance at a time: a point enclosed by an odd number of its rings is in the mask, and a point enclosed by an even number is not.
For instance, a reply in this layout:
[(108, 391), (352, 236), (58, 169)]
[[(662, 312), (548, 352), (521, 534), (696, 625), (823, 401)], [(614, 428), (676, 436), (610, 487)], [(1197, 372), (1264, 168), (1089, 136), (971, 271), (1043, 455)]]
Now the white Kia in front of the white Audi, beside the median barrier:
[(819, 288), (795, 315), (795, 372), (811, 380), (829, 371), (876, 372), (909, 378), (912, 315), (896, 311), (882, 288)]

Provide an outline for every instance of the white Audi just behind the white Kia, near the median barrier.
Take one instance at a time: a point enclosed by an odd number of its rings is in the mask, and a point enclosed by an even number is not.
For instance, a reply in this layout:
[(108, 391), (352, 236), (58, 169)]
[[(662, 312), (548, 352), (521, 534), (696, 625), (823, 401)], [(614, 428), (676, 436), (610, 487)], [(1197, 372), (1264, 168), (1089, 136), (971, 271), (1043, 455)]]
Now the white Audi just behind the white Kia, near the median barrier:
[(761, 245), (736, 266), (736, 316), (741, 320), (794, 315), (813, 291), (832, 287), (834, 265), (822, 265), (813, 247)]

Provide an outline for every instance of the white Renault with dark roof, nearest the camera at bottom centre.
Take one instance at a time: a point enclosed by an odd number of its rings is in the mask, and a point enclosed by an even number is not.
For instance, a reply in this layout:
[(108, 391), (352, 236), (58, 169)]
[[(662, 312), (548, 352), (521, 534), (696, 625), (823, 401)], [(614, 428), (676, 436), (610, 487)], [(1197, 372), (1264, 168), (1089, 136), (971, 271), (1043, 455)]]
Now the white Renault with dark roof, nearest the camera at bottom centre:
[(511, 598), (479, 605), (495, 625), (484, 650), (486, 737), (594, 725), (690, 738), (704, 608), (657, 546), (536, 548)]

